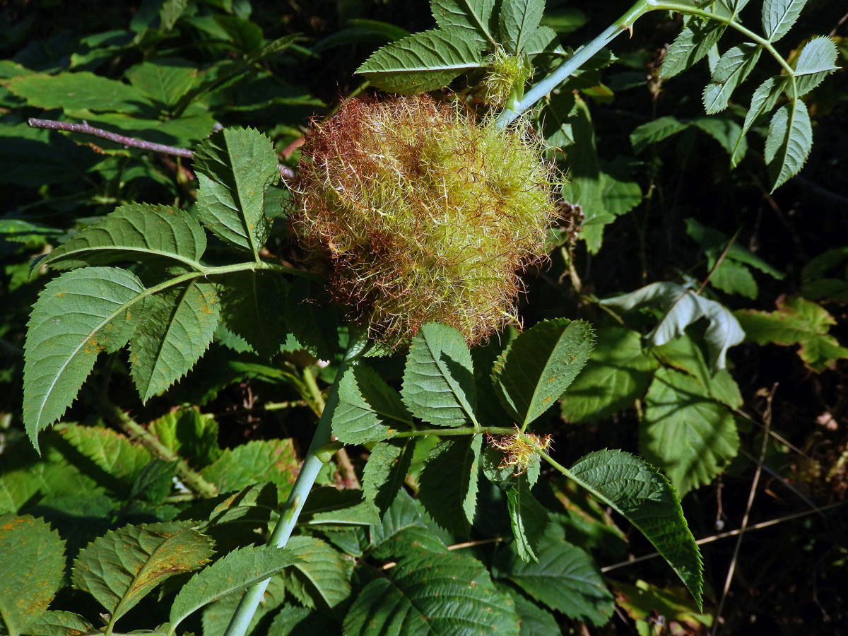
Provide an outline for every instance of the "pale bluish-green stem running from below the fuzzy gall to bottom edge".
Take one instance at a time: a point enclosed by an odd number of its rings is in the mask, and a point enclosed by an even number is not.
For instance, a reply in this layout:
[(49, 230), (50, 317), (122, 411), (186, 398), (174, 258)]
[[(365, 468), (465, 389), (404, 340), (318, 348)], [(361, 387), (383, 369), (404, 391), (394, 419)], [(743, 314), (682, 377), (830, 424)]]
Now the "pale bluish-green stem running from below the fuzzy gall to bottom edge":
[[(312, 443), (309, 450), (306, 451), (304, 464), (300, 467), (298, 478), (294, 482), (292, 492), (288, 494), (286, 505), (283, 507), (282, 516), (276, 523), (276, 527), (268, 538), (268, 545), (276, 548), (283, 548), (288, 542), (288, 538), (292, 536), (294, 525), (298, 522), (300, 510), (303, 510), (306, 498), (310, 494), (315, 477), (321, 471), (326, 454), (321, 452), (327, 444), (330, 444), (332, 437), (332, 414), (338, 406), (338, 384), (341, 382), (346, 371), (350, 366), (356, 364), (360, 356), (365, 351), (365, 343), (367, 342), (367, 332), (360, 332), (354, 336), (351, 333), (348, 350), (344, 354), (342, 364), (339, 365), (336, 373), (336, 379), (332, 383), (330, 393), (327, 395), (326, 407), (321, 413), (321, 420), (318, 421), (318, 427), (315, 429), (315, 435), (312, 437)], [(254, 617), (256, 608), (259, 607), (259, 602), (262, 600), (265, 589), (268, 587), (270, 578), (265, 581), (255, 583), (244, 593), (242, 600), (239, 602), (235, 613), (232, 615), (230, 624), (226, 628), (224, 636), (244, 636), (248, 631), (251, 619)]]

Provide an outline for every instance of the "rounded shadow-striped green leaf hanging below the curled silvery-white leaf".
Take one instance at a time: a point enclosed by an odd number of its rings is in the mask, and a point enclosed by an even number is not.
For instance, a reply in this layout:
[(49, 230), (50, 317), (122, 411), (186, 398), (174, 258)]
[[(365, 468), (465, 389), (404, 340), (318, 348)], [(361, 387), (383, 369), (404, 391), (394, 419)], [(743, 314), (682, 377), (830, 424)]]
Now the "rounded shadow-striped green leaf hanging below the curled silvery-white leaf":
[(739, 450), (734, 416), (694, 377), (661, 369), (644, 399), (639, 451), (681, 497), (721, 474)]

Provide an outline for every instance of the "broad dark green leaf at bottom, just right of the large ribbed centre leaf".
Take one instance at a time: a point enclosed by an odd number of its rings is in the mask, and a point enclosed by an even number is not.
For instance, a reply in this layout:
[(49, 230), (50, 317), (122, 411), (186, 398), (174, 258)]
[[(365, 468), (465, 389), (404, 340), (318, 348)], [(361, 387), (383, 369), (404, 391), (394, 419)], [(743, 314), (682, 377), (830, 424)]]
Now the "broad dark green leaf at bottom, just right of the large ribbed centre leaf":
[(568, 543), (550, 526), (539, 539), (538, 562), (526, 562), (516, 547), (499, 550), (494, 576), (507, 578), (533, 599), (570, 618), (603, 625), (613, 611), (612, 594), (588, 552)]

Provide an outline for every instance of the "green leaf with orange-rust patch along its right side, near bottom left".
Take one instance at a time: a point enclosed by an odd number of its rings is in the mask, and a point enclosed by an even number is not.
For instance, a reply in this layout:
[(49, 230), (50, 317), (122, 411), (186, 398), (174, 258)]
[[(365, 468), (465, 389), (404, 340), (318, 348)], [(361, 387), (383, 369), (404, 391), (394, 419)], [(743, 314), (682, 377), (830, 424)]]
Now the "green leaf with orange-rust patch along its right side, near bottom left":
[(98, 600), (111, 622), (166, 578), (206, 565), (212, 540), (195, 522), (141, 523), (110, 530), (82, 550), (71, 579)]

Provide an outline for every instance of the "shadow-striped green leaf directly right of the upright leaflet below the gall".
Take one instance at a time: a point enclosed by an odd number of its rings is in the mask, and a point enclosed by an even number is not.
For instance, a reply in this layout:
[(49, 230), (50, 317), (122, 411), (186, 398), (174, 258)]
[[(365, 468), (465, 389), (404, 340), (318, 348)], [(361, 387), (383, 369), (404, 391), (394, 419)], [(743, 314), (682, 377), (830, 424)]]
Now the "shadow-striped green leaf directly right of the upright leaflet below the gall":
[(656, 360), (642, 352), (638, 332), (617, 326), (599, 329), (586, 366), (562, 396), (562, 417), (597, 421), (628, 409), (644, 394), (656, 367)]

